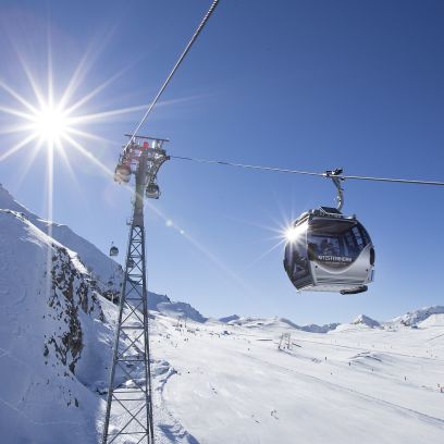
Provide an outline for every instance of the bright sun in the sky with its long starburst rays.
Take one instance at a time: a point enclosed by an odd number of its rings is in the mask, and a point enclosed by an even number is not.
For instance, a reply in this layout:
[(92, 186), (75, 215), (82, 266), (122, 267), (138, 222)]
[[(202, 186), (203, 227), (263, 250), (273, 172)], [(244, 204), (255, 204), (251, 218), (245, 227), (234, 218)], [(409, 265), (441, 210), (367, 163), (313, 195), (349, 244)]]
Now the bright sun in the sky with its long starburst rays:
[[(111, 119), (115, 120), (121, 115), (144, 110), (146, 104), (97, 112), (85, 112), (85, 107), (92, 99), (97, 100), (97, 96), (118, 79), (125, 70), (97, 85), (89, 92), (79, 96), (78, 89), (84, 75), (91, 67), (86, 55), (74, 70), (65, 88), (54, 88), (50, 49), (48, 50), (46, 88), (37, 82), (26, 60), (22, 57), (18, 59), (34, 97), (22, 96), (10, 84), (0, 79), (0, 92), (7, 92), (9, 96), (8, 101), (4, 101), (5, 97), (1, 96), (0, 135), (11, 135), (11, 140), (15, 138), (15, 144), (11, 147), (5, 149), (2, 146), (0, 148), (0, 162), (30, 146), (30, 149), (27, 150), (26, 168), (22, 170), (24, 177), (40, 149), (46, 148), (48, 171), (52, 171), (53, 152), (57, 152), (58, 158), (64, 161), (69, 173), (75, 180), (76, 175), (70, 162), (73, 151), (76, 151), (85, 157), (88, 162), (95, 163), (104, 174), (112, 177), (114, 175), (113, 171), (96, 158), (91, 148), (84, 146), (86, 141), (94, 143), (92, 147), (98, 146), (98, 144), (106, 146), (112, 141), (90, 133), (86, 127), (98, 122), (109, 122)], [(55, 89), (59, 91), (58, 95), (53, 94)], [(74, 100), (75, 96), (78, 96), (76, 100)], [(95, 106), (100, 107), (98, 102)], [(51, 177), (49, 178), (51, 180)]]

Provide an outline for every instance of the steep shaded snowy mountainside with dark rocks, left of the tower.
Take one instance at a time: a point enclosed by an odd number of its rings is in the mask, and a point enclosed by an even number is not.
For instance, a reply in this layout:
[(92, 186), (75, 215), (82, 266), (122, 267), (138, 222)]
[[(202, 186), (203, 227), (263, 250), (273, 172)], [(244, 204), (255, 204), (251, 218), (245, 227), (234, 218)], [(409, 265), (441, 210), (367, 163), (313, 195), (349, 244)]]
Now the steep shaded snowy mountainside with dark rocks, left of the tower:
[(96, 443), (87, 386), (106, 378), (112, 331), (90, 278), (20, 213), (1, 210), (0, 227), (1, 442)]

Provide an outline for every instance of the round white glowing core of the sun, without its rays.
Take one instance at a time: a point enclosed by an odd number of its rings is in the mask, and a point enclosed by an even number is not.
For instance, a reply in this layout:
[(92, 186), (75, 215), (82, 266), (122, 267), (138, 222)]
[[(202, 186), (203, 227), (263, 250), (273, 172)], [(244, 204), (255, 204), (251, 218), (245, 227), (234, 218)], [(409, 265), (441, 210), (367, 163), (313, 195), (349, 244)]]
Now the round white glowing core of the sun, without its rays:
[(45, 106), (34, 118), (33, 127), (44, 143), (60, 143), (69, 133), (66, 113), (58, 107)]

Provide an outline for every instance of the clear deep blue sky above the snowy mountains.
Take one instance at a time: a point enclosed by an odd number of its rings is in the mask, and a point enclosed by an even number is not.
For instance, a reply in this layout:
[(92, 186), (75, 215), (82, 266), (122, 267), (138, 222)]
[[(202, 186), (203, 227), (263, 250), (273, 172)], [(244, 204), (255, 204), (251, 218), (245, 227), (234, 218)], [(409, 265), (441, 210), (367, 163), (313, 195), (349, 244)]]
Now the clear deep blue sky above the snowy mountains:
[[(146, 104), (209, 3), (3, 0), (0, 79), (35, 102), (18, 54), (45, 87), (49, 28), (59, 94), (89, 53), (74, 101), (128, 67), (79, 112)], [(163, 96), (169, 103), (141, 133), (170, 138), (177, 156), (444, 180), (443, 21), (440, 0), (222, 0)], [(5, 91), (0, 104), (20, 108)], [(141, 114), (84, 127), (109, 143), (79, 141), (113, 169), (123, 134)], [(1, 128), (14, 123), (0, 112)], [(0, 155), (25, 135), (0, 135)], [(71, 147), (65, 151), (75, 181), (57, 156), (54, 220), (103, 251), (111, 240), (125, 250), (131, 196)], [(25, 174), (30, 152), (0, 162), (0, 182), (45, 215), (46, 156), (40, 151)], [(283, 247), (259, 259), (292, 217), (333, 203), (329, 182), (173, 160), (159, 182), (163, 195), (153, 206), (195, 243), (147, 209), (149, 287), (205, 314), (332, 322), (443, 303), (444, 189), (345, 183), (344, 211), (358, 214), (375, 244), (377, 281), (368, 293), (341, 296), (296, 293)]]

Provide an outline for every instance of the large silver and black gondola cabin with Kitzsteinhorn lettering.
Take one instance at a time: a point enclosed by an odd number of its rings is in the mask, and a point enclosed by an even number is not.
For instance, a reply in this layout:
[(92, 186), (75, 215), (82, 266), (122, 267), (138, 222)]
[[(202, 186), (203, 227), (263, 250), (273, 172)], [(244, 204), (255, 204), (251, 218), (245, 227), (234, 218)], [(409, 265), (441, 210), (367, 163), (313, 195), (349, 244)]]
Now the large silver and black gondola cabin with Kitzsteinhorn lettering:
[(320, 207), (287, 232), (284, 268), (299, 291), (361, 293), (373, 280), (374, 247), (355, 215)]

